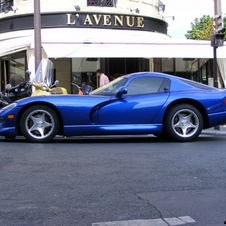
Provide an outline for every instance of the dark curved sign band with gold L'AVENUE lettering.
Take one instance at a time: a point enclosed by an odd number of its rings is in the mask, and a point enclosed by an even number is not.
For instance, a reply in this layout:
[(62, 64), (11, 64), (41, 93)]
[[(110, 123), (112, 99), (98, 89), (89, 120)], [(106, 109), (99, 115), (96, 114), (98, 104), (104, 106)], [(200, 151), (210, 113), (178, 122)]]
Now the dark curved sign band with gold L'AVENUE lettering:
[[(164, 20), (139, 15), (111, 13), (60, 12), (41, 14), (42, 28), (100, 28), (140, 30), (167, 34)], [(34, 29), (33, 14), (14, 15), (0, 20), (0, 34)]]

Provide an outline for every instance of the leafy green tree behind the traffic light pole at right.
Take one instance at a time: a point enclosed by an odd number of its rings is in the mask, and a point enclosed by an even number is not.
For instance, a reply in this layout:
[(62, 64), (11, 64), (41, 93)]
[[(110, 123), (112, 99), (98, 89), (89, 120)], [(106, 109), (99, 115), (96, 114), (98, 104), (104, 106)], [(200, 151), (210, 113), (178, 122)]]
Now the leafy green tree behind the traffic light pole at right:
[[(224, 17), (224, 28), (219, 33), (224, 34), (226, 39), (226, 17)], [(195, 40), (210, 40), (214, 32), (214, 19), (213, 17), (204, 15), (202, 18), (196, 18), (191, 23), (191, 30), (187, 31), (185, 37), (187, 39)]]

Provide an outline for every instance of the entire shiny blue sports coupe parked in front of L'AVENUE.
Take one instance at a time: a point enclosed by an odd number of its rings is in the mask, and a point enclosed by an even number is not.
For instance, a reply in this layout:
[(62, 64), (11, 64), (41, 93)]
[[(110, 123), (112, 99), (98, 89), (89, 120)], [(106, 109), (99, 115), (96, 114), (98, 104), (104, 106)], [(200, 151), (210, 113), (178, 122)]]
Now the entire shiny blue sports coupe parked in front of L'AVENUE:
[(89, 95), (33, 96), (0, 110), (0, 136), (30, 142), (122, 134), (187, 142), (225, 123), (226, 90), (155, 72), (119, 77)]

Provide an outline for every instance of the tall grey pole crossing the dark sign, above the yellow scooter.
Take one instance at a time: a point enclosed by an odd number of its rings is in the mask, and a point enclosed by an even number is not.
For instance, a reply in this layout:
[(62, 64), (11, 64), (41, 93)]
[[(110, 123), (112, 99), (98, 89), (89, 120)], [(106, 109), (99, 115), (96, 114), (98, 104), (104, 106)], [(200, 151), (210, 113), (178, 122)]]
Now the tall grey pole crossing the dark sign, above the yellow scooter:
[(34, 0), (35, 70), (42, 59), (40, 0)]

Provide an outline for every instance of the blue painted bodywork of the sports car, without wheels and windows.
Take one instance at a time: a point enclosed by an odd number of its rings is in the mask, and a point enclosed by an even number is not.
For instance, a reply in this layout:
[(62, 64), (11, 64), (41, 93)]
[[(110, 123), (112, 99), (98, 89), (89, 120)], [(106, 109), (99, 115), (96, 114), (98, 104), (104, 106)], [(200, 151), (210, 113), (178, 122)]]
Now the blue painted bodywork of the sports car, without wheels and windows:
[[(162, 73), (135, 73), (128, 76), (125, 87), (134, 77), (158, 76), (170, 79), (170, 90), (148, 95), (34, 96), (17, 101), (14, 108), (0, 110), (0, 135), (17, 135), (15, 124), (27, 105), (48, 104), (62, 118), (63, 135), (143, 134), (162, 131), (163, 118), (169, 105), (180, 100), (195, 101), (203, 106), (209, 127), (226, 123), (226, 91), (213, 87), (201, 89), (183, 79)], [(183, 103), (183, 102), (182, 102)], [(7, 119), (13, 114), (14, 119)]]

